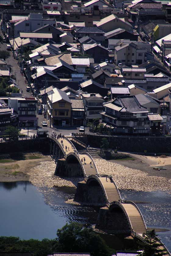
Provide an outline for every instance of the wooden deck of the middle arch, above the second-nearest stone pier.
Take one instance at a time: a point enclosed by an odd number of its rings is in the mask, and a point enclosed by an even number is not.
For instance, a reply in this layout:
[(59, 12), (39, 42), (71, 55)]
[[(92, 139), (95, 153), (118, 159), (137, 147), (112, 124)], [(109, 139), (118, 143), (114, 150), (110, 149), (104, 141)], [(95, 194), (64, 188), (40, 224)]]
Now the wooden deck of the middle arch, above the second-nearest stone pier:
[(113, 182), (110, 182), (109, 178), (107, 178), (107, 181), (106, 177), (99, 177), (99, 179), (101, 180), (102, 185), (105, 188), (105, 192), (109, 202), (118, 201), (121, 199), (115, 184)]

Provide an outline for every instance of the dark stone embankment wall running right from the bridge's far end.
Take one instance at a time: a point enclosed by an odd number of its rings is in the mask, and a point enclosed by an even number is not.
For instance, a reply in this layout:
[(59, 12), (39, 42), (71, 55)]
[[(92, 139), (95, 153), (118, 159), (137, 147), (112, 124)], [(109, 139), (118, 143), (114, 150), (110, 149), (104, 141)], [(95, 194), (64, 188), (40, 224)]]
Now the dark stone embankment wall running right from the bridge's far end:
[[(83, 138), (83, 140), (82, 140)], [(103, 136), (87, 135), (86, 137), (79, 137), (84, 143), (90, 147), (100, 147)], [(106, 137), (109, 141), (109, 148), (128, 152), (153, 152), (153, 153), (170, 153), (171, 152), (171, 137)]]

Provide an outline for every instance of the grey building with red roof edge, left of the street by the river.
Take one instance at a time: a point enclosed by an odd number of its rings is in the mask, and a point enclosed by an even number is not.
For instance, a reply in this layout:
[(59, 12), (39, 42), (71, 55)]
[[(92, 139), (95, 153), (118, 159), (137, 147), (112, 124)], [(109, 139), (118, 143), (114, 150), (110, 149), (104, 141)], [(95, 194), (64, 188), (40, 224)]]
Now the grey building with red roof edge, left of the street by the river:
[(8, 107), (18, 114), (19, 126), (37, 126), (35, 97), (9, 98)]

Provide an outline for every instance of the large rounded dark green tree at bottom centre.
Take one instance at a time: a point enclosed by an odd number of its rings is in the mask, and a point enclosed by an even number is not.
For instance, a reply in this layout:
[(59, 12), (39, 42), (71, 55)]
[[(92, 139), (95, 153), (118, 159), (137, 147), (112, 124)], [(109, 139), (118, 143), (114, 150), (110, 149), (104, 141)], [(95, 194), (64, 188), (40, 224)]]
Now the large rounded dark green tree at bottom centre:
[(110, 248), (92, 229), (78, 223), (66, 224), (57, 231), (57, 241), (61, 252), (88, 252), (92, 256), (110, 255)]

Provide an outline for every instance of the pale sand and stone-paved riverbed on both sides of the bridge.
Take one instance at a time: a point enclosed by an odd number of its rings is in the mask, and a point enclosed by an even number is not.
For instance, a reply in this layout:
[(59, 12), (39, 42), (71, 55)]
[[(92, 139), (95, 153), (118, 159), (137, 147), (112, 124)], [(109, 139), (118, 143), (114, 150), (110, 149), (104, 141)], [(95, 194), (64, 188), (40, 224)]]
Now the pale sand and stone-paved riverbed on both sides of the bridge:
[[(40, 157), (39, 159), (29, 158)], [(153, 160), (153, 159), (152, 159)], [(37, 187), (46, 186), (75, 187), (83, 178), (67, 178), (54, 176), (56, 164), (50, 156), (40, 153), (26, 154), (26, 160), (0, 164), (0, 181), (30, 181)], [(171, 168), (153, 170), (148, 163), (140, 159), (105, 160), (95, 159), (99, 174), (112, 175), (119, 189), (137, 191), (171, 192)]]

